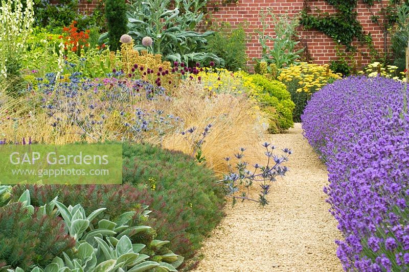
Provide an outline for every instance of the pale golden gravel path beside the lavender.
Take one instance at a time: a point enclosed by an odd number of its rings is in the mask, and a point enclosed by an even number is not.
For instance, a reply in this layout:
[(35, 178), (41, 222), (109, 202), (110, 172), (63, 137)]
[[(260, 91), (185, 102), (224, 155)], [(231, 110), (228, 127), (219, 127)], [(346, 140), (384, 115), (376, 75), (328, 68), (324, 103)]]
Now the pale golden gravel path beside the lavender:
[(226, 207), (194, 271), (342, 271), (334, 243), (340, 233), (322, 190), (327, 171), (301, 132), (297, 123), (287, 134), (271, 135), (274, 145), (293, 151), (290, 171), (271, 186), (266, 208)]

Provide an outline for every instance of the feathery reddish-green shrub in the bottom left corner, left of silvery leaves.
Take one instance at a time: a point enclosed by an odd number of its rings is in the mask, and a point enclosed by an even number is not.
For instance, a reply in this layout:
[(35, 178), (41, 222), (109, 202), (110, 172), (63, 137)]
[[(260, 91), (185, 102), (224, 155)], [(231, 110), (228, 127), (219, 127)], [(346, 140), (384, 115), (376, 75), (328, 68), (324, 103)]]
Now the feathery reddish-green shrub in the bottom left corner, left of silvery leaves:
[(46, 266), (74, 245), (60, 218), (30, 211), (20, 202), (0, 208), (0, 271), (2, 263), (22, 269)]

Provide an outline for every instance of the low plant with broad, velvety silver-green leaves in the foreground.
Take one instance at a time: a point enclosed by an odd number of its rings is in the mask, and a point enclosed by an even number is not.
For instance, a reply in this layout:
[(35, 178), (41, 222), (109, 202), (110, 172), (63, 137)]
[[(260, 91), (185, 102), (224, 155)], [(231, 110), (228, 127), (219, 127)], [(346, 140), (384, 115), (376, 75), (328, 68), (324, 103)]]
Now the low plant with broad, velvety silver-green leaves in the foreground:
[[(29, 197), (28, 192), (26, 190), (25, 195)], [(132, 243), (131, 238), (141, 236), (141, 233), (154, 234), (148, 226), (129, 226), (135, 212), (125, 212), (115, 222), (101, 219), (98, 227), (93, 228), (90, 222), (103, 213), (105, 208), (86, 216), (80, 204), (66, 207), (53, 200), (49, 205), (58, 208), (59, 214), (64, 218), (65, 228), (71, 235), (74, 234), (77, 244), (75, 249), (62, 253), (64, 259), (55, 257), (47, 266), (37, 266), (31, 271), (177, 271), (176, 267), (184, 260), (164, 248), (168, 241), (143, 239), (143, 242), (149, 243)], [(146, 208), (144, 206), (143, 216), (150, 213)], [(16, 272), (21, 270), (23, 269), (20, 267), (10, 269)]]

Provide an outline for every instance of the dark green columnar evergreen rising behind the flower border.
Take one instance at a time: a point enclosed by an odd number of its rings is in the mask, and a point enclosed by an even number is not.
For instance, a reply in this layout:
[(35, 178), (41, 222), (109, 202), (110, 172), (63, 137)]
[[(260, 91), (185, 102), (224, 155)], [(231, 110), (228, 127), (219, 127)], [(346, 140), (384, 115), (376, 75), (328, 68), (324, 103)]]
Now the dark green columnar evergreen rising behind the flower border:
[(125, 0), (106, 0), (105, 17), (108, 27), (109, 48), (117, 51), (120, 47), (120, 38), (128, 32), (126, 24), (126, 4)]

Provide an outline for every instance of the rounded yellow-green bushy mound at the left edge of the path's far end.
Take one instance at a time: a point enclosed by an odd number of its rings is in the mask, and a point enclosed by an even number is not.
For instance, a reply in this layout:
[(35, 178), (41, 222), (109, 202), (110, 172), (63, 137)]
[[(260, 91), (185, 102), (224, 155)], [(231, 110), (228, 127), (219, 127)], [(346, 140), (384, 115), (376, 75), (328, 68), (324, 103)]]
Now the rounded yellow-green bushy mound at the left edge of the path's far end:
[[(271, 133), (278, 133), (293, 126), (292, 111), (295, 108), (287, 87), (276, 80), (269, 80), (262, 75), (252, 75), (254, 84), (262, 88), (261, 93), (255, 93), (257, 101), (268, 113)], [(274, 121), (275, 120), (275, 121)]]

